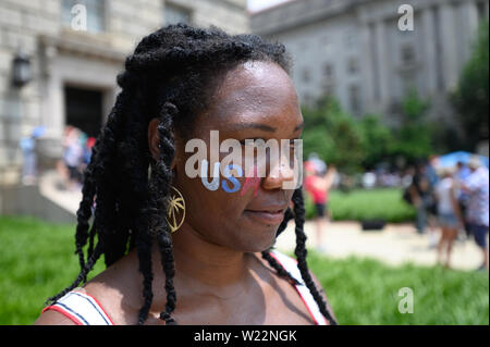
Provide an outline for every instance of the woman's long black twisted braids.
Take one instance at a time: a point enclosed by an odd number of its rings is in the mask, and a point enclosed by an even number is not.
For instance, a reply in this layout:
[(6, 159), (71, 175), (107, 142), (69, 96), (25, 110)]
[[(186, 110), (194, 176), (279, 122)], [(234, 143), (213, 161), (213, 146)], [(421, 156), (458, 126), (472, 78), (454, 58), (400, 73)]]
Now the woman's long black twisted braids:
[[(172, 182), (170, 168), (175, 153), (172, 134), (176, 131), (186, 137), (193, 126), (193, 115), (207, 108), (219, 76), (246, 61), (274, 62), (290, 72), (290, 59), (283, 45), (267, 42), (256, 35), (231, 36), (215, 26), (205, 29), (185, 24), (169, 25), (146, 36), (137, 45), (125, 61), (125, 70), (118, 76), (122, 90), (84, 172), (75, 234), (75, 253), (81, 272), (69, 287), (47, 302), (56, 302), (79, 283), (85, 283), (100, 256), (105, 256), (109, 267), (136, 247), (139, 272), (144, 277), (144, 303), (138, 315), (138, 324), (143, 324), (154, 296), (150, 249), (156, 238), (167, 292), (167, 303), (160, 319), (167, 324), (176, 324), (171, 317), (176, 303), (172, 238), (162, 212), (168, 207)], [(150, 154), (147, 134), (149, 122), (155, 116), (159, 119), (158, 160)], [(308, 273), (301, 188), (295, 190), (293, 202), (294, 212), (287, 209), (277, 235), (294, 218), (295, 255), (303, 280), (326, 319), (336, 324)], [(87, 241), (85, 259), (83, 248)], [(297, 284), (271, 257), (270, 249), (261, 255), (278, 275)]]

